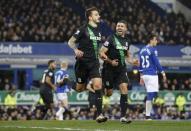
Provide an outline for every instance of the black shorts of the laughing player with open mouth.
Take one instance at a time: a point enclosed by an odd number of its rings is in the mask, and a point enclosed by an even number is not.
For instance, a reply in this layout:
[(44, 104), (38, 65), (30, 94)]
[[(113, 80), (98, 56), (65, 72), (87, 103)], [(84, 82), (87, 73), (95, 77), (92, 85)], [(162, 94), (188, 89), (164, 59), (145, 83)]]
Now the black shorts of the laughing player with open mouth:
[(128, 75), (126, 68), (106, 68), (102, 70), (103, 86), (106, 89), (112, 89), (114, 86), (119, 87), (121, 83), (128, 83)]

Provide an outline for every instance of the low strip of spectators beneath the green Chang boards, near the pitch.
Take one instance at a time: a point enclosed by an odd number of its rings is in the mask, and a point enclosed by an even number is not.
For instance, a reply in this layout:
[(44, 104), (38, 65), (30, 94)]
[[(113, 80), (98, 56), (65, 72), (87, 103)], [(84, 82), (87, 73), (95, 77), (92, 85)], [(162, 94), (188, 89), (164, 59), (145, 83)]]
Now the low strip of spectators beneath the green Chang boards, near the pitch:
[[(80, 106), (81, 107), (81, 106)], [(95, 110), (88, 107), (75, 106), (70, 108), (70, 112), (64, 113), (64, 120), (91, 120), (95, 119)], [(53, 120), (55, 112), (48, 111), (46, 119)], [(120, 108), (118, 104), (110, 106), (104, 110), (104, 114), (111, 120), (120, 118)], [(132, 120), (143, 120), (145, 116), (143, 105), (130, 105), (127, 110), (127, 117)], [(20, 105), (15, 107), (0, 106), (0, 120), (42, 120), (44, 112), (42, 107)], [(179, 111), (176, 106), (155, 106), (154, 119), (161, 120), (191, 120), (191, 106), (186, 106), (186, 110)]]

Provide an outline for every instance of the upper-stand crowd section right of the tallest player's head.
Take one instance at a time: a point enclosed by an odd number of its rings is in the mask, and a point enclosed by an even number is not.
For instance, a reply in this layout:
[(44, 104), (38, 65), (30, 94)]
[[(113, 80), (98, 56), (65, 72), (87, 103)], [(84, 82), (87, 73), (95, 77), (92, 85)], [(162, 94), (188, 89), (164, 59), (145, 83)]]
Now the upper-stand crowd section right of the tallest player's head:
[(83, 8), (97, 6), (101, 17), (114, 30), (115, 23), (123, 18), (135, 43), (145, 43), (145, 37), (152, 32), (158, 34), (162, 43), (190, 45), (191, 26), (180, 12), (160, 16), (151, 9), (147, 0), (75, 0)]

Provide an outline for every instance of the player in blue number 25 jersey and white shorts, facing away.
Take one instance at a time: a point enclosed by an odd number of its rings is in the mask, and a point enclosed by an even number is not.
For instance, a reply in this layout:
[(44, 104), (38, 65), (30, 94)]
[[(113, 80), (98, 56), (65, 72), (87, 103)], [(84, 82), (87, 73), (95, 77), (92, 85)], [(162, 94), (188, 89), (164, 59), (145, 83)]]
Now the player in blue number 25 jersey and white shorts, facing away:
[(156, 35), (148, 36), (148, 45), (143, 47), (139, 53), (140, 61), (140, 84), (144, 84), (147, 91), (146, 97), (146, 119), (151, 120), (152, 101), (159, 91), (157, 72), (159, 71), (163, 80), (166, 81), (166, 74), (158, 60), (158, 52), (155, 48), (158, 40)]

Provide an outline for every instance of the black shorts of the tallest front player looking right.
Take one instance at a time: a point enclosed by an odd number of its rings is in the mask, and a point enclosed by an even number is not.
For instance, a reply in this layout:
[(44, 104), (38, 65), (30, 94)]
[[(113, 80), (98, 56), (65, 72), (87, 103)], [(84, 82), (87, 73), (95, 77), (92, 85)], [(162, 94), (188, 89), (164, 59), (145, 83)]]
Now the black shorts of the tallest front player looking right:
[(76, 82), (87, 83), (92, 78), (101, 78), (99, 61), (85, 62), (77, 60), (75, 64)]

